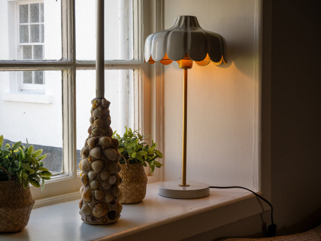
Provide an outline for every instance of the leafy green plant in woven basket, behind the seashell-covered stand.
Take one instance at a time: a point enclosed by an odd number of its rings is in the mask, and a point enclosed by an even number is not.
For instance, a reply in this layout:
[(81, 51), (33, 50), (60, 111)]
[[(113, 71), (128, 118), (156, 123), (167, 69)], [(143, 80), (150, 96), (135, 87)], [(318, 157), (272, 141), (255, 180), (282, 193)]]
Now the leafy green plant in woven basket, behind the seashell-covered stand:
[(149, 146), (146, 137), (138, 132), (138, 130), (132, 131), (130, 128), (126, 128), (126, 132), (123, 137), (116, 133), (116, 139), (119, 141), (118, 150), (121, 153), (119, 163), (122, 168), (119, 172), (122, 183), (119, 188), (122, 192), (120, 198), (121, 203), (138, 203), (145, 198), (147, 176), (143, 166), (149, 164), (151, 173), (155, 167), (161, 167), (156, 161), (156, 158), (162, 158), (163, 155), (160, 151), (156, 150), (157, 143), (152, 140), (152, 145)]

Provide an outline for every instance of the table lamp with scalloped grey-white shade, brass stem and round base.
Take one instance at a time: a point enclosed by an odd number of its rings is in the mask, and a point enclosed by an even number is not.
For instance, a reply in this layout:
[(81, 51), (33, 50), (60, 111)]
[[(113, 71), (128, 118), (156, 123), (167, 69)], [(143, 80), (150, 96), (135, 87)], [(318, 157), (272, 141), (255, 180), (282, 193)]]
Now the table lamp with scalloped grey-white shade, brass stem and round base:
[(173, 27), (150, 34), (145, 41), (144, 58), (154, 64), (159, 61), (169, 65), (177, 61), (183, 69), (183, 152), (182, 180), (160, 184), (158, 194), (169, 198), (201, 198), (210, 195), (209, 185), (200, 182), (186, 182), (186, 140), (187, 140), (187, 69), (197, 65), (205, 66), (225, 63), (223, 38), (214, 32), (201, 28), (195, 16), (178, 16)]

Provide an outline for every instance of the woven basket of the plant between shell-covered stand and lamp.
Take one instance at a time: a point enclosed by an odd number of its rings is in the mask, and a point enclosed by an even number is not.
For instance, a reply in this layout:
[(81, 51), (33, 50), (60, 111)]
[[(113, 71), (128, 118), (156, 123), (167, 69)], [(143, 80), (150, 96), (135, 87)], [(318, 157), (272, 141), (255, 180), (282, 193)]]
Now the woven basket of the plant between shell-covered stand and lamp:
[(121, 164), (119, 172), (123, 182), (119, 185), (124, 204), (134, 204), (142, 201), (146, 195), (147, 176), (144, 167), (140, 163)]

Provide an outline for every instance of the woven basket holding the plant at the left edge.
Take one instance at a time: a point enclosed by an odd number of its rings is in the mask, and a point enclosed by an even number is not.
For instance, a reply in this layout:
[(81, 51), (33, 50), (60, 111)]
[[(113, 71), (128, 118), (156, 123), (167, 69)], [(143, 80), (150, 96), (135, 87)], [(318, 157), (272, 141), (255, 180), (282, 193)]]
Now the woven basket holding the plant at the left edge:
[[(2, 166), (0, 168), (6, 171)], [(28, 224), (35, 203), (29, 185), (24, 189), (22, 183), (10, 177), (10, 181), (0, 182), (0, 233), (22, 231)]]

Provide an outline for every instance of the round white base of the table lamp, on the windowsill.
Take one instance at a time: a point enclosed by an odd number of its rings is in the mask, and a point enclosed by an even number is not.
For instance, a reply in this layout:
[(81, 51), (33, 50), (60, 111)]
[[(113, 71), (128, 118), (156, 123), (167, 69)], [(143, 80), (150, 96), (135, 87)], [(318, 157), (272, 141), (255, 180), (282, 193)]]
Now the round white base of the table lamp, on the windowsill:
[(178, 181), (164, 182), (158, 187), (158, 194), (167, 198), (191, 199), (210, 195), (210, 186), (206, 183), (188, 182), (189, 186), (179, 186)]

